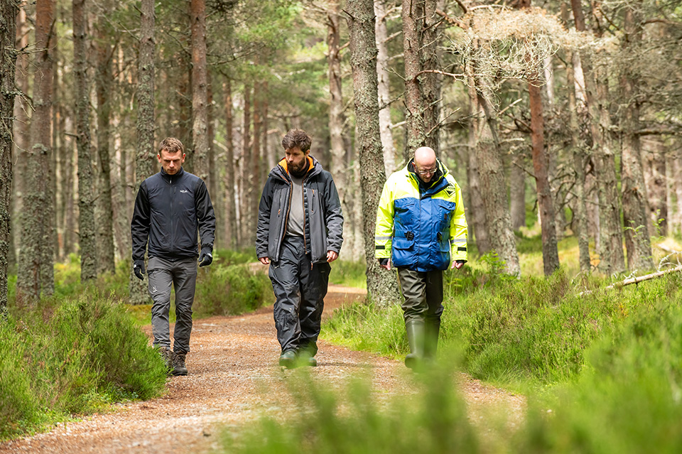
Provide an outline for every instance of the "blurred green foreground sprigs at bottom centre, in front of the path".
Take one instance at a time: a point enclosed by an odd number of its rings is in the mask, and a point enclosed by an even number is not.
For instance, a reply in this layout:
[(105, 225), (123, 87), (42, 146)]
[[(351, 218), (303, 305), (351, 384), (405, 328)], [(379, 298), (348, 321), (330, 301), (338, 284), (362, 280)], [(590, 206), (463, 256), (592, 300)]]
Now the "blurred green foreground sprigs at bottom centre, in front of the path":
[(305, 374), (296, 374), (288, 382), (296, 402), (290, 423), (263, 419), (239, 436), (227, 436), (225, 452), (480, 452), (451, 374), (427, 374), (420, 382), (425, 389), (420, 396), (396, 399), (389, 408), (382, 408), (364, 382), (352, 382), (339, 395)]

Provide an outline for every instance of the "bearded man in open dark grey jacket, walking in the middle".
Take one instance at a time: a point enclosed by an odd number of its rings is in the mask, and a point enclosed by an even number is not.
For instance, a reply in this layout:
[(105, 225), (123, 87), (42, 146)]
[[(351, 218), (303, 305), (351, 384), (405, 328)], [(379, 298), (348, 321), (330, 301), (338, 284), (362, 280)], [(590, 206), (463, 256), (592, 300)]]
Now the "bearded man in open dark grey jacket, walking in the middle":
[(332, 175), (310, 156), (311, 139), (293, 129), (268, 175), (258, 208), (256, 254), (270, 264), (279, 364), (317, 365), (315, 353), (330, 262), (339, 256), (343, 216)]

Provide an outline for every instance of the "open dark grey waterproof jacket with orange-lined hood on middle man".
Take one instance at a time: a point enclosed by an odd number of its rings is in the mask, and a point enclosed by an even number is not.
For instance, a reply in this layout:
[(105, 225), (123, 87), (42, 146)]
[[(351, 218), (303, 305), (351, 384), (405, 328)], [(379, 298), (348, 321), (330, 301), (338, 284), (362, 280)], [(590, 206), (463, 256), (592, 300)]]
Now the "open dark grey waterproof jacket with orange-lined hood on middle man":
[[(291, 206), (291, 177), (282, 159), (268, 175), (258, 207), (256, 255), (279, 261), (282, 239)], [(303, 218), (305, 254), (313, 263), (327, 261), (327, 252), (338, 254), (343, 241), (343, 215), (339, 193), (332, 175), (315, 158), (308, 156), (308, 173), (303, 177)]]

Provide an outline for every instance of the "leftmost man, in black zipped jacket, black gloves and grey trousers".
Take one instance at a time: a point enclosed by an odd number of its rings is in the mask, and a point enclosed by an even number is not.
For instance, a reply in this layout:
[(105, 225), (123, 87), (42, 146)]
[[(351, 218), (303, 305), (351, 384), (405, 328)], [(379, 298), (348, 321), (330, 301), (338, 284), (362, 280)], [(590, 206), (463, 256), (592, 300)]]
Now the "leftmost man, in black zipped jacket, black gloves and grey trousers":
[[(144, 279), (144, 251), (148, 245), (149, 294), (153, 300), (151, 329), (154, 345), (173, 375), (187, 375), (185, 355), (190, 351), (192, 303), (199, 266), (213, 261), (215, 215), (205, 183), (185, 172), (183, 144), (164, 139), (156, 155), (161, 172), (142, 182), (131, 222), (133, 271)], [(201, 249), (197, 243), (201, 237)], [(199, 252), (201, 251), (201, 252)], [(175, 342), (171, 351), (168, 311), (171, 285), (175, 286)]]

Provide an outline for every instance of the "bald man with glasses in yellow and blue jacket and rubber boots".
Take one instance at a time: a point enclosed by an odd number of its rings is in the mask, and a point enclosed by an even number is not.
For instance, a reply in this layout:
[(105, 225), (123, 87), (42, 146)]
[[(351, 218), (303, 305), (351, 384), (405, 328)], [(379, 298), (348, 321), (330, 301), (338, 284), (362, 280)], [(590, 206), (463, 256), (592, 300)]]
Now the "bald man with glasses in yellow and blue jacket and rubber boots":
[(467, 261), (467, 220), (460, 186), (432, 148), (421, 147), (381, 192), (375, 256), (398, 269), (410, 353), (405, 365), (433, 360), (443, 313), (443, 270)]

